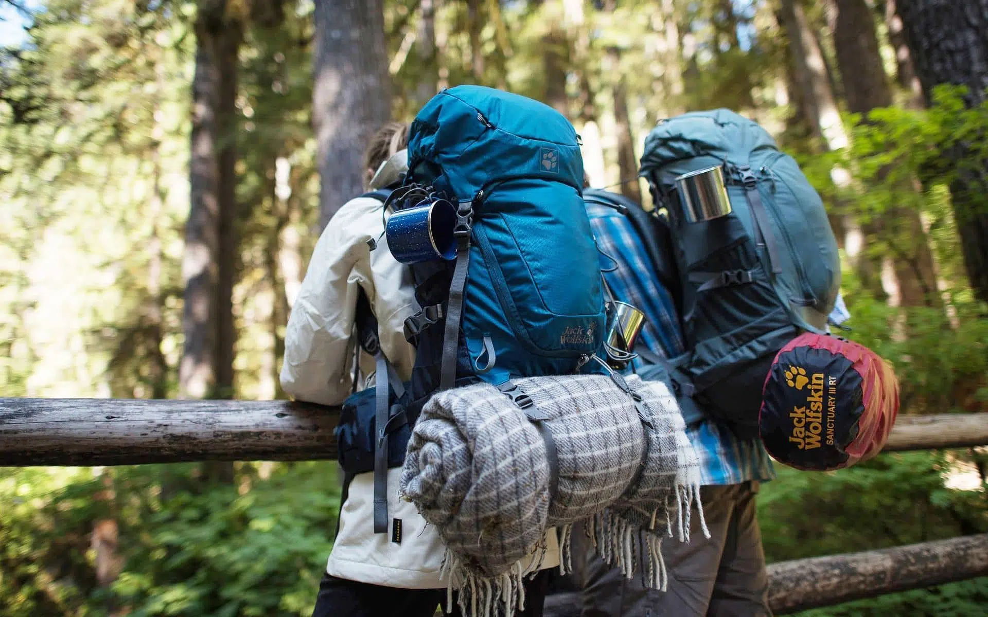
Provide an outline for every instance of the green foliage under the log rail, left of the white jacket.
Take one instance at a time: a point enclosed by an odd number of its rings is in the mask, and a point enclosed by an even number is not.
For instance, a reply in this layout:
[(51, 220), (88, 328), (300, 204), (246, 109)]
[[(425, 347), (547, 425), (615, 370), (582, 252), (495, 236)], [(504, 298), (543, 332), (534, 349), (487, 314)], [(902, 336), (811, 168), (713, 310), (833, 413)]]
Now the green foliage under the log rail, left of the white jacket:
[[(204, 484), (192, 465), (100, 476), (0, 468), (0, 502), (13, 504), (0, 510), (3, 614), (310, 614), (336, 526), (336, 465), (265, 467), (262, 479), (241, 464), (235, 486)], [(107, 517), (120, 526), (125, 561), (120, 578), (101, 588), (90, 532)]]

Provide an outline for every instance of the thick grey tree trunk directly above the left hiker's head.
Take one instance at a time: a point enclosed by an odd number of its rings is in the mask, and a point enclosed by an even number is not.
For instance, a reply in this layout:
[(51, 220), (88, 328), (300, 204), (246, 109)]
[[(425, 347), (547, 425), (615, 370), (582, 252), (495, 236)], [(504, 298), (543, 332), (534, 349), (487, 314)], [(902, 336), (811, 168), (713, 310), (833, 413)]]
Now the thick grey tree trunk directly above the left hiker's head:
[(391, 115), (383, 0), (316, 0), (312, 123), (320, 225), (364, 191), (363, 152)]

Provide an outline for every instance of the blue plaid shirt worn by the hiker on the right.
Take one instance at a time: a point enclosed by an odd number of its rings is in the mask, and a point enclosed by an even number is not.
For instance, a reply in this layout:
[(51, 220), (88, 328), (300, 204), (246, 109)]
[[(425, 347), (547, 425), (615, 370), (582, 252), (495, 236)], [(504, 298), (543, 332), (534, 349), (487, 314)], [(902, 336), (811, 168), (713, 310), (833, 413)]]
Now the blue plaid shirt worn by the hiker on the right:
[[(676, 314), (676, 304), (658, 277), (651, 260), (637, 240), (634, 227), (617, 210), (587, 203), (590, 226), (601, 253), (601, 270), (615, 299), (645, 313), (647, 321), (639, 340), (653, 353), (675, 357), (686, 351)], [(639, 362), (640, 360), (635, 360)], [(759, 439), (738, 439), (729, 428), (712, 420), (687, 427), (700, 458), (703, 485), (766, 482), (776, 477), (772, 459)]]

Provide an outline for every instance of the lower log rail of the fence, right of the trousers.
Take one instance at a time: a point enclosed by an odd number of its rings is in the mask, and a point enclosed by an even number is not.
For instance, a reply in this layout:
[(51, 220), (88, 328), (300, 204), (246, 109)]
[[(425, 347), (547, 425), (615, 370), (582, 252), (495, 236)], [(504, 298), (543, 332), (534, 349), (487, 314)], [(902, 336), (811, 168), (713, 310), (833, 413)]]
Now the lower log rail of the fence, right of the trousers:
[[(988, 534), (769, 566), (777, 615), (988, 575)], [(669, 584), (675, 584), (675, 579)], [(668, 591), (667, 591), (668, 592)], [(580, 593), (555, 593), (545, 617), (579, 617)]]

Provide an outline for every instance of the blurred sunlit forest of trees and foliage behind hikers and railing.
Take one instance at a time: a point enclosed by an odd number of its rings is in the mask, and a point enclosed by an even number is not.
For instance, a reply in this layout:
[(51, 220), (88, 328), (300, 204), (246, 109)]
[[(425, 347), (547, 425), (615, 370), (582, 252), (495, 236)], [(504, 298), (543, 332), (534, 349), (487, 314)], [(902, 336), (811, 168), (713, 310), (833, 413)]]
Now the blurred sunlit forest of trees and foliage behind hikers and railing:
[[(904, 413), (988, 401), (988, 1), (0, 0), (0, 396), (283, 397), (315, 240), (389, 117), (546, 102), (591, 184), (727, 107), (824, 196)], [(320, 193), (320, 177), (322, 191)], [(627, 181), (627, 182), (622, 182)], [(988, 530), (984, 448), (780, 469), (770, 561)], [(308, 615), (335, 463), (0, 468), (0, 615)], [(983, 615), (988, 578), (827, 615)]]

